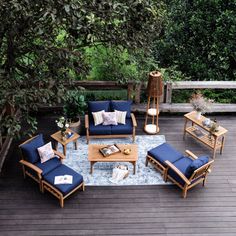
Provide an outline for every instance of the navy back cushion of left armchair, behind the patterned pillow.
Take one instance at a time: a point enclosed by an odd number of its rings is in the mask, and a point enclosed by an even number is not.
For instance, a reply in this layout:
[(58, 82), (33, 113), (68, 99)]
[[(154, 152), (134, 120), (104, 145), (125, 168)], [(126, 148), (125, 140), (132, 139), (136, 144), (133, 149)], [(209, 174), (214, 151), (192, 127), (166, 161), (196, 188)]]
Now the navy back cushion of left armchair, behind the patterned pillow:
[(30, 142), (22, 145), (20, 148), (26, 161), (35, 163), (40, 160), (37, 148), (44, 145), (43, 135), (39, 134)]

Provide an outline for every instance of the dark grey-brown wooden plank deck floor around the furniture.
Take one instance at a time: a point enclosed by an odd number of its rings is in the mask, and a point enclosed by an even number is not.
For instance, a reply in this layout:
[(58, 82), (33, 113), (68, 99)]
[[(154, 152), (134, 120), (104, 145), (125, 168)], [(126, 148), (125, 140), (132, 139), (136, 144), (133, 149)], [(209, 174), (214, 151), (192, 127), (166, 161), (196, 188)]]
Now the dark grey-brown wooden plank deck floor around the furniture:
[[(54, 118), (39, 117), (39, 132), (49, 139)], [(65, 202), (41, 194), (24, 180), (14, 142), (0, 178), (0, 235), (236, 235), (236, 117), (217, 116), (229, 130), (223, 155), (217, 153), (205, 188), (197, 186), (187, 199), (173, 185), (87, 187)], [(160, 134), (177, 149), (196, 154), (210, 150), (191, 137), (182, 139), (183, 116), (161, 116)], [(138, 119), (142, 134), (143, 120)]]

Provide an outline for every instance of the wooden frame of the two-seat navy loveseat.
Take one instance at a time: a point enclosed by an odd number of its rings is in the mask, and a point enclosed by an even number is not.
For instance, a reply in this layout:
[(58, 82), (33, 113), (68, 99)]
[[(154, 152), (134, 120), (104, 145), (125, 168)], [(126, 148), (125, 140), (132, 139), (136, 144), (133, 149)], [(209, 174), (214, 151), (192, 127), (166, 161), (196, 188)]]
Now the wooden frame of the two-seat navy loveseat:
[(126, 137), (129, 137), (130, 135), (132, 136), (133, 142), (135, 142), (135, 132), (136, 132), (135, 130), (137, 127), (137, 121), (133, 113), (131, 113), (131, 120), (133, 124), (132, 134), (91, 135), (89, 134), (89, 116), (85, 115), (85, 129), (86, 129), (87, 144), (89, 144), (90, 138), (126, 138)]

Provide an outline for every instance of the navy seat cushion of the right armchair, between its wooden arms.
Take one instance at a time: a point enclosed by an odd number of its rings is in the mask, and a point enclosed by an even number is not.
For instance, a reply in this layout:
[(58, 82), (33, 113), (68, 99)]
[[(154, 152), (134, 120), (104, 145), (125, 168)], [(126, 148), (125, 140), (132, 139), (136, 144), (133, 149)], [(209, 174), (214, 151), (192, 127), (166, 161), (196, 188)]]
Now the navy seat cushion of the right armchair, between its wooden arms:
[[(188, 167), (191, 165), (193, 160), (189, 157), (183, 157), (174, 163), (172, 163), (177, 169), (179, 169), (185, 176), (188, 173)], [(178, 174), (176, 174), (175, 171), (172, 169), (169, 169), (168, 175), (170, 175), (173, 179), (175, 179), (178, 183), (180, 183), (182, 186), (184, 186), (185, 182), (179, 177)], [(186, 176), (187, 177), (187, 176)], [(187, 177), (188, 178), (188, 177)]]

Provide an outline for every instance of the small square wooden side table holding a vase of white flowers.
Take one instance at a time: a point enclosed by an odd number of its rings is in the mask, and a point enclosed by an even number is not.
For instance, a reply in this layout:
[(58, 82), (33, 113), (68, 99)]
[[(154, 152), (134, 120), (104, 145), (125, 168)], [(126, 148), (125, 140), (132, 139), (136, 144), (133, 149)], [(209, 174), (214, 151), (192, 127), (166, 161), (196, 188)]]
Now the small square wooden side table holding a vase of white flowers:
[(66, 132), (71, 132), (73, 135), (70, 138), (67, 138), (65, 141), (62, 140), (61, 138), (61, 131), (57, 131), (56, 133), (52, 134), (51, 137), (56, 141), (56, 146), (55, 149), (57, 150), (58, 148), (58, 143), (60, 143), (63, 147), (63, 154), (66, 156), (66, 145), (70, 142), (74, 142), (75, 145), (75, 150), (77, 150), (77, 140), (80, 137), (79, 134), (75, 133), (71, 129), (66, 129)]

